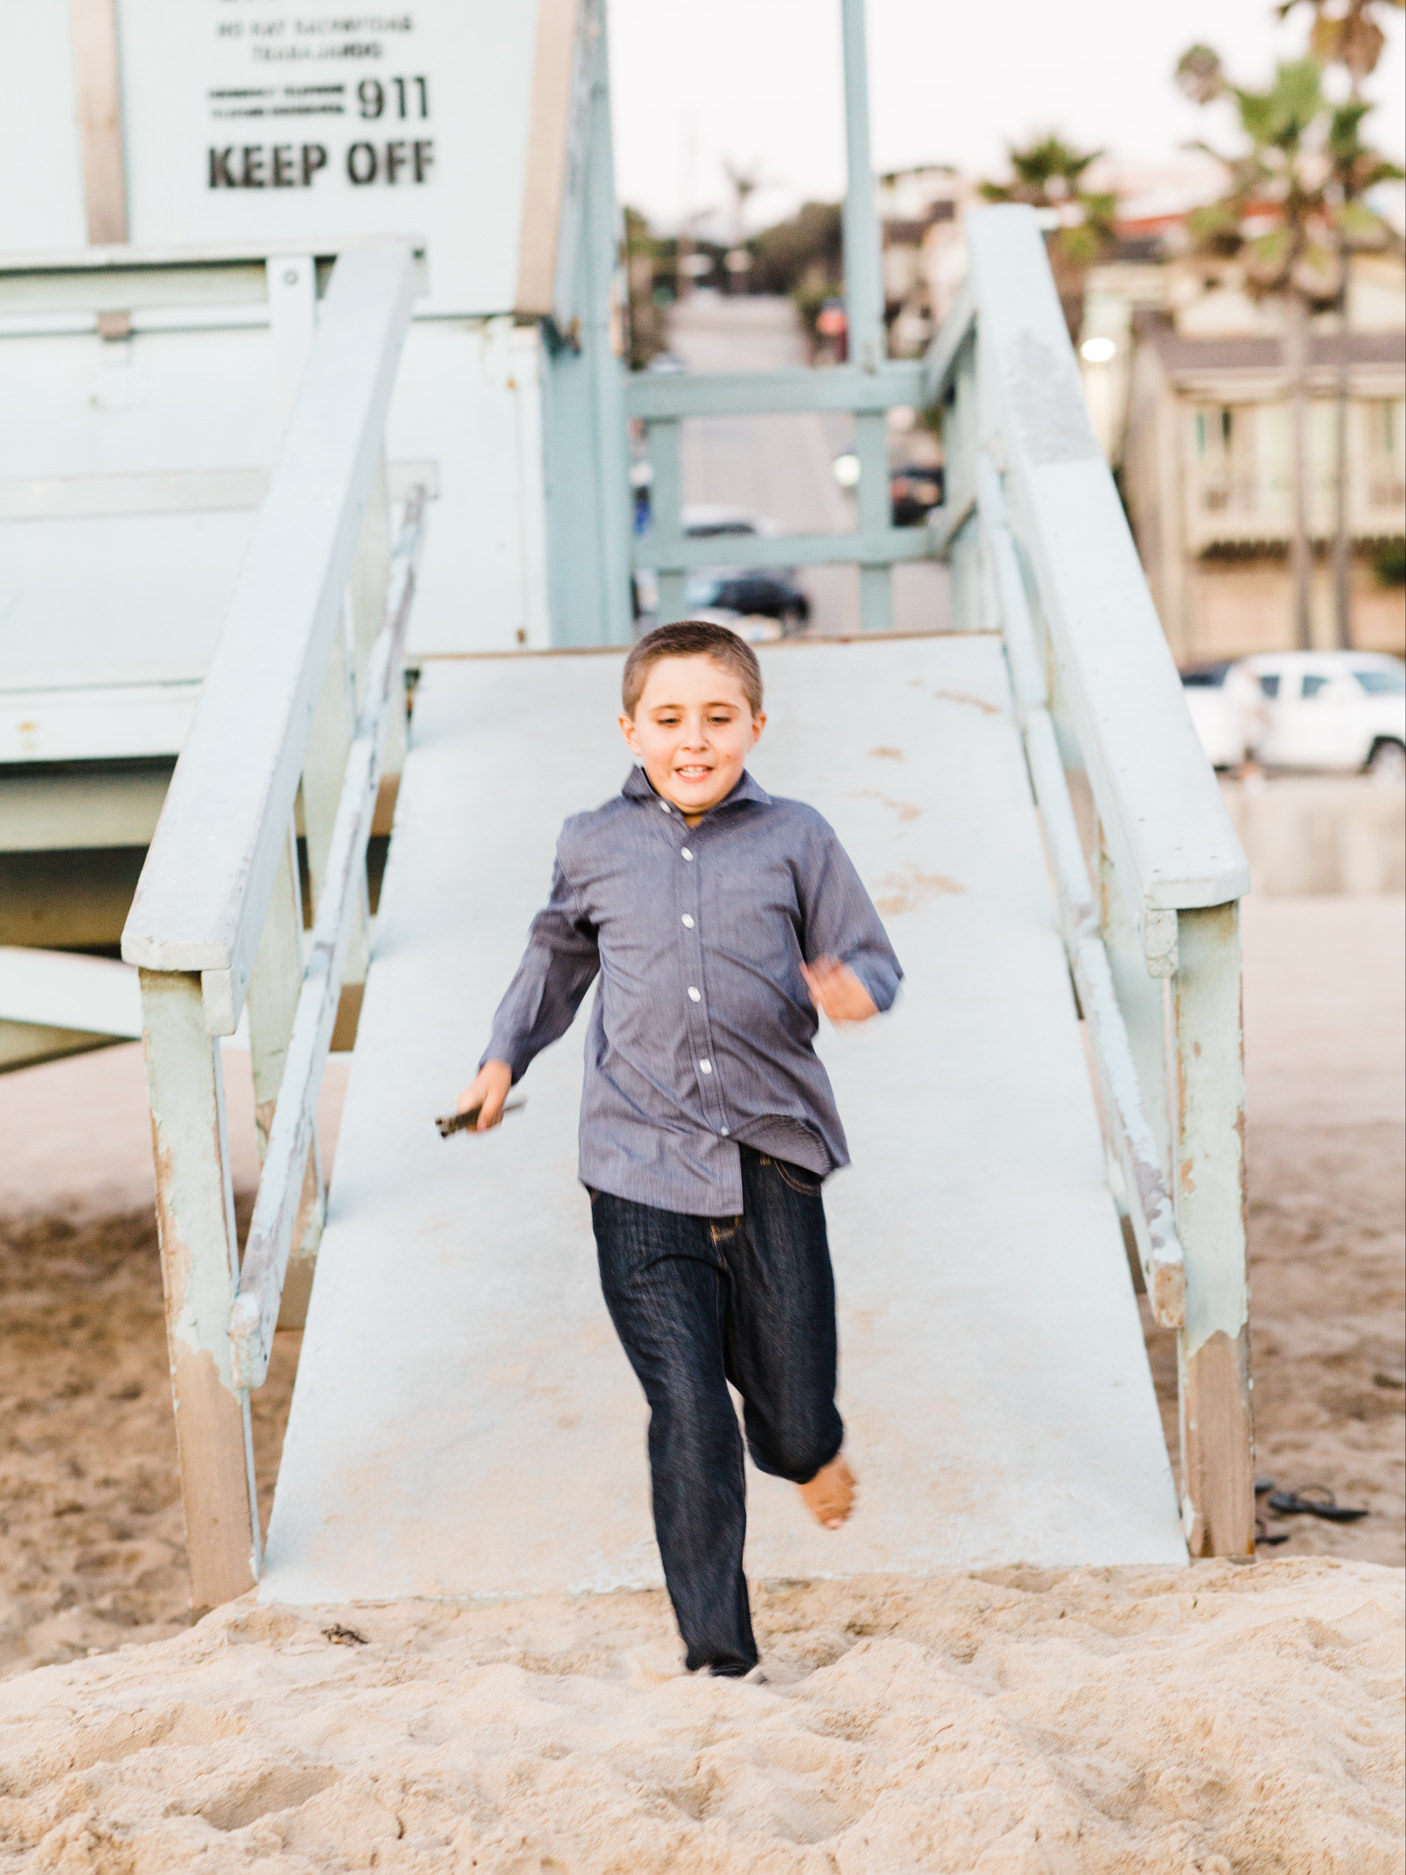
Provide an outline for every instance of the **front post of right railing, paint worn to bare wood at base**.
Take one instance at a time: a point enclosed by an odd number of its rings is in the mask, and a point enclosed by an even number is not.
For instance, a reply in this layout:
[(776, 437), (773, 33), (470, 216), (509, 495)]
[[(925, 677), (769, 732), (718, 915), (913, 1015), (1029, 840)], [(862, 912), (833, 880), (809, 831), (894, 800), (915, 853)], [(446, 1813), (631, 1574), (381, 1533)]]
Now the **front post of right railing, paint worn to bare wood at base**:
[(1192, 1556), (1254, 1554), (1239, 906), (1177, 915), (1175, 1192), (1187, 1258), (1181, 1494)]

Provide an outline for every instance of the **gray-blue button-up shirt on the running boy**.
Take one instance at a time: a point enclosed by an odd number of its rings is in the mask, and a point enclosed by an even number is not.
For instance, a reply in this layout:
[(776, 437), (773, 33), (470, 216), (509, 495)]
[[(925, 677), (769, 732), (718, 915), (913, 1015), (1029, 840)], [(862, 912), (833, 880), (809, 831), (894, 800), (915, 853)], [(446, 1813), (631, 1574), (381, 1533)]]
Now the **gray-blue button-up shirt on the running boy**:
[(750, 774), (697, 827), (643, 769), (561, 831), (484, 1054), (517, 1080), (564, 1035), (600, 973), (581, 1089), (581, 1183), (737, 1217), (737, 1148), (825, 1178), (849, 1162), (812, 1046), (800, 962), (838, 958), (879, 1009), (904, 975), (830, 825)]

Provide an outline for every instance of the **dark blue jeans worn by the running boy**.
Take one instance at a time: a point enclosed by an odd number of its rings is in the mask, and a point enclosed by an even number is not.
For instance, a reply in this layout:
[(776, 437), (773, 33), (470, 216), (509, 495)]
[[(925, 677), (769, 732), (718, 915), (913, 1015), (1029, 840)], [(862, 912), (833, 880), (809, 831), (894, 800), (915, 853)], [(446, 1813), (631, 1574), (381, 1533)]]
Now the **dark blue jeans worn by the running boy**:
[(819, 1179), (742, 1151), (742, 1215), (690, 1217), (594, 1192), (615, 1331), (649, 1401), (654, 1534), (688, 1667), (757, 1663), (742, 1575), (746, 1448), (806, 1483), (840, 1449), (834, 1277)]

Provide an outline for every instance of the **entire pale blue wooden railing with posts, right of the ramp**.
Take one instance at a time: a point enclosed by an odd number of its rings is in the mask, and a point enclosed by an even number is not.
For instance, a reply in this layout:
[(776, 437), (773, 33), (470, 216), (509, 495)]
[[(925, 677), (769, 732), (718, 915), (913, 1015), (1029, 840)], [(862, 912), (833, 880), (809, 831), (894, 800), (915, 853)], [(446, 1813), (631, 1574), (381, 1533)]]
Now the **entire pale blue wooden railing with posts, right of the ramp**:
[[(967, 216), (928, 354), (967, 624), (1005, 636), (1110, 1191), (1177, 1329), (1192, 1556), (1254, 1552), (1239, 906), (1250, 876), (1093, 433), (1035, 216)], [(1074, 814), (1087, 778), (1095, 825)], [(1097, 878), (1091, 872), (1097, 868)]]

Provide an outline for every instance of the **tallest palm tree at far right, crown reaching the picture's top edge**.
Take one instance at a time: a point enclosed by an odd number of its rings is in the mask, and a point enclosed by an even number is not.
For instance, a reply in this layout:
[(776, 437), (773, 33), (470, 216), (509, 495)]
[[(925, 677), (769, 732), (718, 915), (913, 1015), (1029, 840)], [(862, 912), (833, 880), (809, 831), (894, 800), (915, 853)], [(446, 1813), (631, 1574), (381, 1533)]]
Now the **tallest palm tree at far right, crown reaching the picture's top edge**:
[[(1406, 0), (1340, 0), (1329, 6), (1327, 0), (1282, 0), (1279, 17), (1284, 19), (1297, 6), (1310, 6), (1314, 22), (1309, 49), (1322, 66), (1340, 66), (1348, 73), (1348, 105), (1335, 112), (1329, 129), (1329, 152), (1333, 158), (1333, 180), (1344, 208), (1342, 242), (1342, 289), (1339, 294), (1339, 382), (1337, 382), (1337, 424), (1335, 424), (1335, 463), (1333, 463), (1333, 628), (1342, 651), (1352, 649), (1352, 519), (1348, 514), (1350, 488), (1350, 446), (1348, 446), (1348, 396), (1350, 396), (1350, 276), (1352, 255), (1361, 246), (1384, 246), (1384, 223), (1370, 218), (1365, 225), (1359, 214), (1363, 195), (1376, 182), (1400, 178), (1395, 163), (1384, 163), (1376, 152), (1361, 141), (1361, 122), (1369, 105), (1363, 103), (1363, 79), (1376, 71), (1387, 36), (1376, 19), (1378, 11), (1406, 8)], [(1355, 227), (1354, 227), (1355, 223)], [(1354, 238), (1355, 236), (1355, 238)]]

